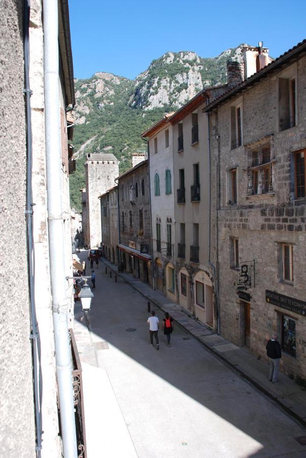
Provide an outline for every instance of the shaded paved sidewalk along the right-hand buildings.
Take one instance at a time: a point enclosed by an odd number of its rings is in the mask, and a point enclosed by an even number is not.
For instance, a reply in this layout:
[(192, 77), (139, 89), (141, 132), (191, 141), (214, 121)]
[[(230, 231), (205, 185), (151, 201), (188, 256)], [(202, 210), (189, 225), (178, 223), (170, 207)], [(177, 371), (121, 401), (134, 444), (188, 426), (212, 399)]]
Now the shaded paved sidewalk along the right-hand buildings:
[[(174, 321), (202, 342), (207, 350), (215, 354), (241, 377), (247, 379), (257, 389), (273, 399), (303, 426), (306, 426), (306, 391), (297, 385), (294, 380), (279, 373), (281, 383), (272, 384), (268, 381), (268, 365), (255, 358), (249, 350), (237, 347), (223, 337), (214, 334), (211, 330), (196, 321), (194, 317), (190, 316), (187, 310), (178, 304), (170, 302), (162, 293), (152, 290), (148, 284), (143, 283), (138, 278), (128, 273), (118, 273), (117, 266), (106, 261), (104, 258), (102, 262), (152, 304), (164, 311), (168, 311)], [(100, 266), (102, 268), (103, 264), (101, 263)]]

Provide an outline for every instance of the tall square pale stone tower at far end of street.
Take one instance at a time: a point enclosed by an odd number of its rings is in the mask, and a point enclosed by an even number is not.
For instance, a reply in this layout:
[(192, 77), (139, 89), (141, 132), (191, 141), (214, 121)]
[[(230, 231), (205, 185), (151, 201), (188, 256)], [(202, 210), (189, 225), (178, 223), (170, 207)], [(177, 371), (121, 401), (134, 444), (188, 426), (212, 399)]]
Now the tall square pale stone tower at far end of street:
[(99, 196), (116, 185), (119, 161), (110, 153), (88, 153), (85, 162), (86, 183), (86, 240), (90, 248), (99, 246), (101, 235), (101, 209)]

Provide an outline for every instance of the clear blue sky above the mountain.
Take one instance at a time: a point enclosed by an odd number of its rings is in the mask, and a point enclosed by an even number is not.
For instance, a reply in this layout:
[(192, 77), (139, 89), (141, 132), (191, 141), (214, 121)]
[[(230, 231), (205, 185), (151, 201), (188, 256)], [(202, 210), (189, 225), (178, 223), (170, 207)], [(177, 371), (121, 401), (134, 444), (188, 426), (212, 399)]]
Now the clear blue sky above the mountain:
[(74, 76), (135, 78), (167, 51), (215, 57), (263, 41), (274, 58), (306, 38), (306, 0), (182, 2), (70, 0)]

